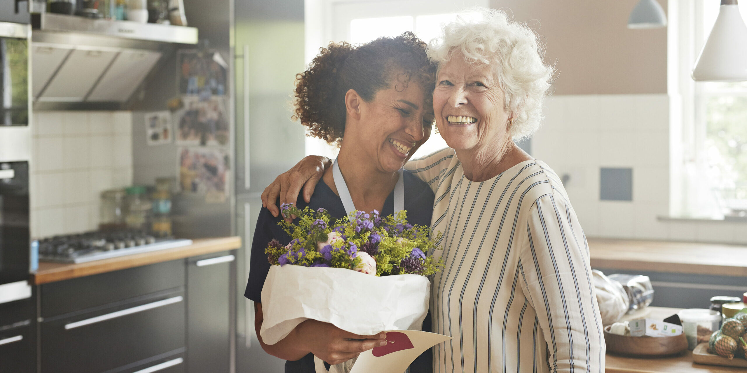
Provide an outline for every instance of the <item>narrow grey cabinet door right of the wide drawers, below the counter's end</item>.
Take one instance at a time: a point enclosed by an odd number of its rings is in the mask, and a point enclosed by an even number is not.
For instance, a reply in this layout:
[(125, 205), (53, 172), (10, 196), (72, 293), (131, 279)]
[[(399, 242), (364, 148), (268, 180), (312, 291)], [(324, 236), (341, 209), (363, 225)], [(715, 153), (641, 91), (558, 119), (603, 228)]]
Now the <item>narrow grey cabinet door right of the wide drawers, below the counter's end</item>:
[(187, 372), (229, 372), (234, 268), (229, 251), (187, 259)]

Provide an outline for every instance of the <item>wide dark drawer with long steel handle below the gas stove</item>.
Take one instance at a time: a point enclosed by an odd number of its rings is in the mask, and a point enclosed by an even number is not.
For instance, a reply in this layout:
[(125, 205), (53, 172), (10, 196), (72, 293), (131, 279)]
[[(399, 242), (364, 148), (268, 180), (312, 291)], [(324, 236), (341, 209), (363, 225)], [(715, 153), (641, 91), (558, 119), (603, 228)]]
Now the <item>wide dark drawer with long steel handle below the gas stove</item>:
[[(101, 373), (185, 347), (185, 292), (40, 323), (41, 373)], [(134, 371), (137, 372), (137, 371)]]

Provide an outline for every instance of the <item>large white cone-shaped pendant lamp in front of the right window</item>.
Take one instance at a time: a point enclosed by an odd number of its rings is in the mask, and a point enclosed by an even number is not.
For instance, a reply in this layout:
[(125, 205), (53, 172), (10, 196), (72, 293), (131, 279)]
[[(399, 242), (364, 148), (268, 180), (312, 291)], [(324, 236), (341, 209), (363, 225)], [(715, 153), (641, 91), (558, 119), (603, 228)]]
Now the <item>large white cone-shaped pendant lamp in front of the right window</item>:
[(747, 81), (747, 26), (737, 0), (721, 0), (719, 16), (695, 61), (692, 79)]

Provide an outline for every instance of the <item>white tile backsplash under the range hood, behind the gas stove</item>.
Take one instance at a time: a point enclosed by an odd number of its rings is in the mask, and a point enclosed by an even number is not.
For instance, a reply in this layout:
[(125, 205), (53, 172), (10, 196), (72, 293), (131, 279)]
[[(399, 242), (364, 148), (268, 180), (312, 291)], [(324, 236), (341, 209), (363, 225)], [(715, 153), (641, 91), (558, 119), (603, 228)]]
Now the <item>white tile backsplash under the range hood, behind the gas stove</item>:
[(90, 231), (99, 195), (132, 184), (132, 116), (125, 111), (37, 111), (31, 236)]

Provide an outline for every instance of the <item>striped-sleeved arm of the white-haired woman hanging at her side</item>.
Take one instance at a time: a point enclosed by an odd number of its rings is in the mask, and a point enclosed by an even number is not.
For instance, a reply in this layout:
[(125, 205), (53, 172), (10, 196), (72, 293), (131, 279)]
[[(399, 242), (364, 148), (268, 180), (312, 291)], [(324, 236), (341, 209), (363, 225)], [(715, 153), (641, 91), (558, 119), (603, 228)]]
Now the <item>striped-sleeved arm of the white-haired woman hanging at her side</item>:
[(542, 195), (526, 224), (520, 282), (548, 342), (551, 372), (603, 373), (604, 336), (589, 248), (573, 208), (561, 193)]

